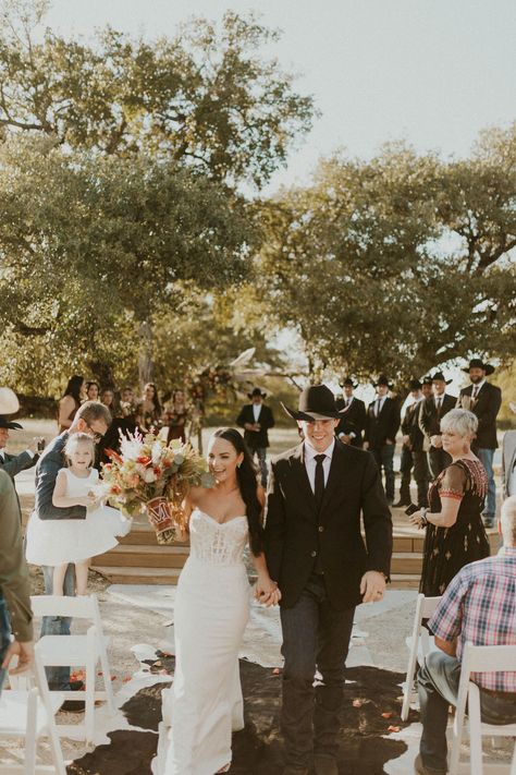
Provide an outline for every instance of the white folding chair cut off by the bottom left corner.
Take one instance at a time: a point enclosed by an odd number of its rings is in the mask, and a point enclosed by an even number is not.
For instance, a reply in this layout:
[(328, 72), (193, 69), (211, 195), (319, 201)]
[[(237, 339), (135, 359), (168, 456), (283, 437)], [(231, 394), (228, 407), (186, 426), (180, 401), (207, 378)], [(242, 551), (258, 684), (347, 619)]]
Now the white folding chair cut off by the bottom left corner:
[[(24, 681), (25, 682), (25, 681)], [(54, 715), (64, 702), (62, 692), (49, 692), (45, 668), (39, 654), (35, 654), (34, 667), (26, 689), (16, 688), (22, 681), (11, 680), (12, 689), (4, 689), (0, 695), (0, 738), (24, 738), (24, 763), (2, 763), (2, 775), (23, 773), (57, 773), (66, 775), (63, 754), (59, 742)], [(37, 763), (37, 746), (48, 738), (52, 765)]]

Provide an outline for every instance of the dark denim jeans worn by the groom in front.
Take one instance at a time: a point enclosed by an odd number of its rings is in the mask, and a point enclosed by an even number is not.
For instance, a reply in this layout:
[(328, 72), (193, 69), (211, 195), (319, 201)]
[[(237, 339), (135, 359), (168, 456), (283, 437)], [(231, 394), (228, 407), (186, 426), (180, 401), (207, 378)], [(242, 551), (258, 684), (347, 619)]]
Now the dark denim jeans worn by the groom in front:
[(286, 764), (312, 766), (314, 751), (337, 751), (339, 712), (355, 608), (335, 610), (324, 579), (312, 574), (292, 608), (281, 609)]

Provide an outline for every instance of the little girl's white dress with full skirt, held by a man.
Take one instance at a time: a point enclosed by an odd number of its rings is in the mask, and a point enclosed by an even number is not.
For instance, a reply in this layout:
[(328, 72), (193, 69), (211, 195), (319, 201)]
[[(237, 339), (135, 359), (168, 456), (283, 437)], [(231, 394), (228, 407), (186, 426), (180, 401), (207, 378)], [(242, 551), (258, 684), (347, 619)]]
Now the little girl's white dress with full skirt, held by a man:
[[(66, 476), (66, 496), (84, 497), (98, 485), (97, 469), (89, 476), (75, 476), (61, 469)], [(115, 535), (127, 535), (131, 521), (118, 509), (100, 506), (87, 511), (86, 519), (39, 519), (33, 513), (27, 524), (26, 558), (34, 565), (57, 566), (109, 552), (119, 543)]]

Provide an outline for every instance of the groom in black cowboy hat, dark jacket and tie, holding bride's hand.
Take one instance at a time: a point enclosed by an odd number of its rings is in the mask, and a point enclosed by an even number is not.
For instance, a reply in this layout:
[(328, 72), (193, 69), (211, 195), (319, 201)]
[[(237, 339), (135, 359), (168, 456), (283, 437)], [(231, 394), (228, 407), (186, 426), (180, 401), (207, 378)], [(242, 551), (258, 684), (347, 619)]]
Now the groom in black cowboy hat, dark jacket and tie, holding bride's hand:
[(334, 437), (340, 414), (329, 388), (308, 387), (297, 412), (284, 409), (304, 441), (272, 462), (265, 529), (269, 573), (282, 593), (283, 775), (307, 775), (312, 766), (337, 775), (355, 606), (383, 598), (391, 513), (372, 455)]

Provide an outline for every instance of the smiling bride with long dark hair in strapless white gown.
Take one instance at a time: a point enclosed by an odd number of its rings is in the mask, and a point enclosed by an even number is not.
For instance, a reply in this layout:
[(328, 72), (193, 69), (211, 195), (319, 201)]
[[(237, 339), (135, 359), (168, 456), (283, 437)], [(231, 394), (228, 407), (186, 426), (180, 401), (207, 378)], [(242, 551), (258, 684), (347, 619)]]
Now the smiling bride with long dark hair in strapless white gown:
[(176, 665), (168, 692), (172, 729), (164, 775), (213, 775), (231, 766), (231, 734), (244, 727), (238, 650), (249, 615), (247, 543), (258, 574), (257, 598), (265, 605), (281, 598), (262, 553), (265, 494), (238, 431), (216, 431), (208, 462), (214, 486), (192, 489), (186, 502), (191, 555), (175, 598)]

